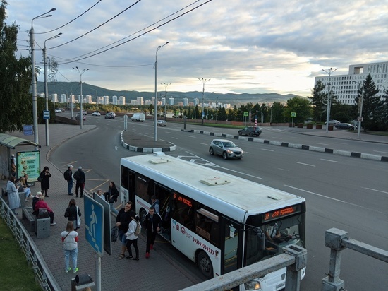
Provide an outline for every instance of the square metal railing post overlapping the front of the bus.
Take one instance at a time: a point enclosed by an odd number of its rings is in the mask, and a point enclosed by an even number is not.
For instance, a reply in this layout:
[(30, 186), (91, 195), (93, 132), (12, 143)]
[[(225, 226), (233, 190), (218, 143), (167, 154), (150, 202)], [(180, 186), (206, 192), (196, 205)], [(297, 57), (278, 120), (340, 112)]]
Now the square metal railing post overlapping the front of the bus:
[(284, 247), (286, 254), (295, 256), (295, 263), (287, 267), (286, 274), (286, 291), (301, 289), (301, 272), (307, 265), (307, 249), (298, 247), (295, 244)]

